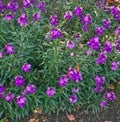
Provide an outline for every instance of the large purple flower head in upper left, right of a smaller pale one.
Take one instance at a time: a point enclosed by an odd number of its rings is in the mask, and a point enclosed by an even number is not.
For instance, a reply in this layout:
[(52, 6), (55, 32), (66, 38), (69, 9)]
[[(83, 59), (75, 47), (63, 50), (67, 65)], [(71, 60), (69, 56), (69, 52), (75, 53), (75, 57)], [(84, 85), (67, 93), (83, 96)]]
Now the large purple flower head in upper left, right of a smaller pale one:
[(19, 18), (18, 18), (18, 23), (20, 26), (27, 26), (28, 25), (28, 16), (23, 13)]

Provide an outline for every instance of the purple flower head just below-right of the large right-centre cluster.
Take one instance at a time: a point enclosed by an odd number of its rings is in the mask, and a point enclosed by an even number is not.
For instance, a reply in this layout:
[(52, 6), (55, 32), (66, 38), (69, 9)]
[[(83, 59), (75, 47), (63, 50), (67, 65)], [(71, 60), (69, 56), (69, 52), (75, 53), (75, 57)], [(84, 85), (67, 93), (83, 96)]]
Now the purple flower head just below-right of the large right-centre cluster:
[(99, 57), (96, 59), (97, 64), (106, 64), (107, 55), (105, 52), (101, 52)]

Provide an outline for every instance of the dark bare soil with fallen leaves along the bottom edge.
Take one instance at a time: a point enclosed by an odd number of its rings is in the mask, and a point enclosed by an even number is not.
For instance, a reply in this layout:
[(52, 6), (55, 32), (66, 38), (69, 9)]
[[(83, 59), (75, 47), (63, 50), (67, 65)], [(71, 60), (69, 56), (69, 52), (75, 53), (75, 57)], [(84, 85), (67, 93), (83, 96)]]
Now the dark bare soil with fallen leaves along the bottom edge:
[[(117, 99), (110, 103), (108, 109), (102, 110), (97, 114), (85, 110), (78, 110), (70, 114), (75, 117), (75, 121), (72, 122), (120, 122), (120, 92), (117, 92)], [(37, 117), (39, 121), (37, 119), (36, 121), (32, 121), (33, 118), (35, 116), (30, 115), (24, 119), (10, 122), (70, 122), (66, 113), (60, 113), (59, 116), (56, 114), (52, 114), (51, 116), (39, 115)]]

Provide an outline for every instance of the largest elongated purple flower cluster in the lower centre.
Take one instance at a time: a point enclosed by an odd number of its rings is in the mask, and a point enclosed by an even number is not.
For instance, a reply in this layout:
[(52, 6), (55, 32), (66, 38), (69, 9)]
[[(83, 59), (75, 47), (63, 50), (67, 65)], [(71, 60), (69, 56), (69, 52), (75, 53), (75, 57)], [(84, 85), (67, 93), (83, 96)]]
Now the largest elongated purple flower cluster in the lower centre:
[(82, 73), (77, 71), (77, 69), (73, 69), (71, 67), (68, 69), (68, 76), (76, 83), (83, 79)]

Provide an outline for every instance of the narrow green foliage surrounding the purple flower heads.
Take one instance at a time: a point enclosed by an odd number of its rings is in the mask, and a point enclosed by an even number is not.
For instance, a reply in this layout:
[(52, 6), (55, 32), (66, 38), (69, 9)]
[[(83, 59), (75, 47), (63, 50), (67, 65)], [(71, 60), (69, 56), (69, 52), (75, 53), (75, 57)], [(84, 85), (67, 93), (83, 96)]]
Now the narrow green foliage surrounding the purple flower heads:
[[(86, 54), (87, 42), (95, 34), (95, 27), (101, 25), (105, 18), (111, 19), (112, 28), (101, 37), (102, 47), (107, 40), (112, 40), (113, 44), (116, 43), (117, 37), (114, 35), (114, 30), (118, 22), (109, 12), (102, 12), (92, 0), (72, 0), (71, 2), (46, 0), (46, 4), (47, 13), (41, 13), (40, 23), (35, 22), (26, 27), (20, 27), (17, 18), (21, 15), (22, 10), (10, 23), (6, 22), (5, 18), (0, 20), (0, 52), (4, 51), (6, 43), (12, 43), (16, 50), (15, 55), (5, 55), (0, 59), (0, 84), (6, 87), (5, 94), (9, 91), (15, 94), (15, 100), (12, 103), (7, 102), (4, 98), (0, 100), (0, 117), (5, 114), (8, 118), (20, 119), (37, 107), (49, 114), (51, 112), (59, 114), (59, 111), (70, 112), (76, 110), (79, 105), (97, 112), (101, 109), (99, 104), (105, 99), (107, 88), (110, 84), (117, 83), (120, 77), (120, 68), (116, 72), (110, 68), (112, 61), (120, 61), (120, 54), (116, 50), (108, 54), (106, 65), (95, 63), (100, 51), (93, 51), (92, 56)], [(79, 18), (74, 18), (72, 21), (66, 21), (63, 18), (67, 10), (74, 11), (76, 6), (84, 8), (84, 15), (90, 13), (93, 16), (93, 25), (88, 33), (84, 32)], [(34, 12), (39, 11), (34, 7), (26, 10), (30, 22)], [(50, 33), (49, 17), (53, 14), (57, 14), (60, 19), (58, 28), (63, 32), (63, 38), (49, 42), (45, 36)], [(82, 34), (82, 41), (74, 38), (77, 33)], [(66, 47), (67, 40), (74, 41), (76, 47), (72, 50), (68, 49)], [(80, 44), (83, 47), (80, 47)], [(75, 57), (70, 55), (72, 52), (76, 53)], [(25, 62), (32, 64), (30, 73), (24, 73), (21, 70)], [(76, 67), (77, 64), (82, 72), (83, 80), (79, 83), (71, 80), (66, 87), (60, 87), (58, 85), (60, 76), (67, 74), (69, 67)], [(105, 90), (102, 94), (94, 92), (94, 78), (97, 74), (104, 76), (106, 79)], [(14, 84), (16, 75), (25, 77), (26, 83), (22, 88), (18, 88)], [(33, 95), (26, 95), (27, 105), (20, 109), (16, 104), (16, 97), (21, 95), (25, 86), (29, 83), (34, 83), (37, 91)], [(46, 90), (50, 86), (56, 88), (54, 97), (48, 97), (46, 94)], [(76, 93), (78, 101), (75, 104), (70, 104), (69, 95), (72, 94), (73, 88), (80, 88), (80, 91)]]

